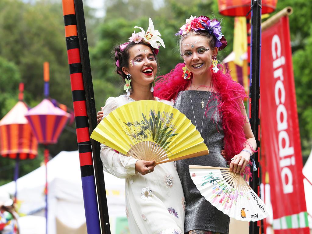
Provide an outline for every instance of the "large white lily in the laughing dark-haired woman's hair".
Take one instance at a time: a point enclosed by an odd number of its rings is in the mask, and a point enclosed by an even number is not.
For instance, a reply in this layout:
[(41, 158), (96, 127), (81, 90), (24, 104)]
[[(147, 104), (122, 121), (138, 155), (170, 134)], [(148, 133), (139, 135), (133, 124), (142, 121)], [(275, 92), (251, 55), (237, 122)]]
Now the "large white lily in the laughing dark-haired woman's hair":
[(149, 27), (145, 32), (143, 28), (135, 26), (134, 28), (141, 29), (142, 32), (138, 32), (137, 35), (142, 37), (146, 43), (149, 43), (153, 48), (159, 49), (160, 44), (163, 48), (166, 48), (165, 44), (163, 43), (163, 39), (161, 39), (161, 35), (158, 30), (154, 29), (154, 24), (151, 18), (149, 18)]

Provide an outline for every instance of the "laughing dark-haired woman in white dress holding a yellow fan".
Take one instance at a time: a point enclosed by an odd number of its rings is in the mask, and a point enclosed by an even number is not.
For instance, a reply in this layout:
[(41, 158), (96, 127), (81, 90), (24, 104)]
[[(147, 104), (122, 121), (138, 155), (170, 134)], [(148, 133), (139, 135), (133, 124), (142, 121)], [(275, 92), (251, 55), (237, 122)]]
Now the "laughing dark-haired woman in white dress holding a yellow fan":
[[(153, 95), (156, 55), (164, 44), (151, 19), (149, 23), (146, 32), (139, 28), (142, 32), (134, 32), (129, 42), (115, 47), (116, 72), (126, 83), (127, 95), (106, 100), (102, 109), (106, 118), (92, 138), (105, 143), (101, 144), (103, 169), (125, 178), (130, 233), (183, 234), (185, 199), (175, 164), (169, 161), (196, 153), (186, 144), (196, 132), (189, 132), (187, 124), (174, 126), (183, 115), (171, 110), (171, 102)], [(207, 153), (201, 141), (195, 137), (191, 144)], [(167, 163), (155, 167), (155, 161)]]

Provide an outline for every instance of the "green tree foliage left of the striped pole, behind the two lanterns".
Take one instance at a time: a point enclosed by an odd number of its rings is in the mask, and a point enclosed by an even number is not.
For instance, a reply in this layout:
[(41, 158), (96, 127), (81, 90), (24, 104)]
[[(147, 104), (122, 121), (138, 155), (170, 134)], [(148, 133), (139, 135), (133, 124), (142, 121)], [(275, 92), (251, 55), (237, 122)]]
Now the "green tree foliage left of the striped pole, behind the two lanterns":
[[(50, 96), (72, 109), (71, 87), (66, 53), (61, 3), (0, 1), (0, 119), (16, 104), (18, 84), (25, 84), (25, 102), (34, 107), (43, 98), (43, 62), (50, 63)], [(74, 126), (66, 126), (72, 129)], [(75, 131), (64, 130), (51, 155), (60, 150), (76, 150)], [(21, 175), (39, 166), (39, 158), (21, 162)], [(11, 168), (14, 160), (0, 158), (0, 168)], [(12, 180), (6, 169), (1, 179)], [(0, 184), (3, 183), (0, 181)]]

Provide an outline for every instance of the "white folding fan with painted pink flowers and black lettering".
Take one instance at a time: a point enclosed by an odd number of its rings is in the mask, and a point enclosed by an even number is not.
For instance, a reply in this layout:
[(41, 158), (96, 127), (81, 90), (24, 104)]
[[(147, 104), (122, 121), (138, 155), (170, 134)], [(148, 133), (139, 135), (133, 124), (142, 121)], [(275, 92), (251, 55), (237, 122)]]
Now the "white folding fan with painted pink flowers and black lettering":
[(229, 168), (189, 165), (200, 194), (231, 218), (256, 222), (268, 217), (266, 205), (244, 178)]

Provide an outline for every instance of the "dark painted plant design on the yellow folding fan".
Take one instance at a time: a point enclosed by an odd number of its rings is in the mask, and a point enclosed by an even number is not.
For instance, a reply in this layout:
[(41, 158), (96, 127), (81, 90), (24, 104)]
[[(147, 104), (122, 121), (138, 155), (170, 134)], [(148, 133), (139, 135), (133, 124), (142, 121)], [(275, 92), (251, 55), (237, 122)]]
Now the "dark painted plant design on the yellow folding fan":
[(168, 147), (171, 141), (169, 138), (178, 135), (174, 133), (176, 127), (172, 124), (173, 113), (158, 111), (157, 115), (155, 110), (150, 110), (149, 119), (142, 113), (143, 120), (124, 123), (126, 129), (124, 132), (131, 138), (133, 142), (144, 141), (145, 139), (152, 138), (153, 141), (163, 149)]

